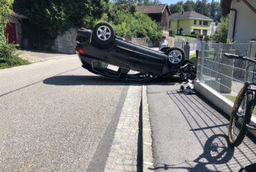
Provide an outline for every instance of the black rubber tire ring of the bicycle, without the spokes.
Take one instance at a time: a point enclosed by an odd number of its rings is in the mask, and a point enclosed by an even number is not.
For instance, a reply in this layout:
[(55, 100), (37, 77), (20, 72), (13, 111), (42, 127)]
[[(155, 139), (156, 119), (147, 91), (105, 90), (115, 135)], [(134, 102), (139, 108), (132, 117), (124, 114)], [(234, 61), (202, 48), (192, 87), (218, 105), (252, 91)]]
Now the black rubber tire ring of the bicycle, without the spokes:
[(238, 147), (239, 144), (241, 144), (241, 142), (244, 140), (244, 137), (246, 136), (246, 133), (248, 131), (247, 128), (247, 124), (250, 122), (250, 118), (252, 116), (253, 113), (253, 108), (254, 108), (254, 100), (253, 100), (253, 93), (252, 92), (247, 92), (247, 102), (246, 102), (246, 110), (245, 110), (245, 114), (244, 114), (244, 118), (241, 122), (241, 127), (239, 130), (239, 133), (237, 134), (237, 137), (235, 138), (234, 136), (234, 132), (233, 132), (233, 125), (235, 124), (235, 116), (237, 115), (237, 111), (239, 110), (239, 107), (242, 103), (242, 101), (244, 100), (244, 96), (246, 94), (246, 87), (244, 87), (243, 89), (241, 89), (241, 91), (239, 92), (239, 96), (237, 96), (237, 99), (235, 100), (234, 106), (233, 106), (233, 110), (232, 110), (232, 114), (230, 116), (230, 122), (229, 122), (229, 126), (228, 126), (228, 141), (230, 142), (230, 144), (234, 147)]

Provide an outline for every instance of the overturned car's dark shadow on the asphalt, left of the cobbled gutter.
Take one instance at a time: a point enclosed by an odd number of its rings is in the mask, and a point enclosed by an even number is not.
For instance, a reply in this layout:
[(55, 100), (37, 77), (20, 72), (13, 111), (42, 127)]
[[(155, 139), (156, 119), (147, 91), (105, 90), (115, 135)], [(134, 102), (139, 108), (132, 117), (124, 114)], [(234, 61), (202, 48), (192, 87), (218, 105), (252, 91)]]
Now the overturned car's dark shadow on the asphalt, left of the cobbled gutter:
[(43, 80), (47, 85), (127, 85), (127, 83), (104, 76), (53, 76)]

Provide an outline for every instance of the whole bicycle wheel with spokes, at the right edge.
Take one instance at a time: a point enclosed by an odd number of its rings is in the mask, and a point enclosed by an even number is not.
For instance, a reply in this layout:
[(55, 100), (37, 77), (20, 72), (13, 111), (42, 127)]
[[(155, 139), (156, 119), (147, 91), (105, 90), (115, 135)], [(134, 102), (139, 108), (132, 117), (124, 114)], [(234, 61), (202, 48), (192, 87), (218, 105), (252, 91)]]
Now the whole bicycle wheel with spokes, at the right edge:
[(238, 147), (246, 136), (248, 130), (246, 125), (250, 122), (254, 108), (253, 93), (247, 92), (246, 97), (245, 94), (244, 87), (235, 100), (228, 126), (228, 141), (235, 147)]

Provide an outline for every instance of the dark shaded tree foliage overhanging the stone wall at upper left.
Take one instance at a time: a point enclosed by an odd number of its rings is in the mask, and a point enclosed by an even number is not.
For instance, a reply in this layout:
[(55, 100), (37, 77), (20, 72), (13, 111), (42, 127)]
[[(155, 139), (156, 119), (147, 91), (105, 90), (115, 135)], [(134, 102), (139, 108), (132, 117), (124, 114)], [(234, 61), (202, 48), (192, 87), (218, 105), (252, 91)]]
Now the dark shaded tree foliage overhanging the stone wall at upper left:
[(60, 31), (85, 27), (93, 19), (100, 19), (109, 0), (19, 0), (15, 3), (19, 13), (55, 37)]

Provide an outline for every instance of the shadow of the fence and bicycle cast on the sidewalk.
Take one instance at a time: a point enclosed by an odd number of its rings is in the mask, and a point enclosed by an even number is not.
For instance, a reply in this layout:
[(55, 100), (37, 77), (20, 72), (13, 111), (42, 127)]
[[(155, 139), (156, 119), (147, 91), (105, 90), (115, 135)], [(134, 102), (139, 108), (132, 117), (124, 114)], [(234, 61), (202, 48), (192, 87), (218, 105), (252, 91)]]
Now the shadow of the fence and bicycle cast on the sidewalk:
[(238, 171), (256, 162), (255, 138), (246, 137), (239, 147), (230, 147), (227, 140), (228, 120), (211, 103), (205, 102), (200, 96), (179, 94), (176, 91), (168, 91), (167, 95), (188, 122), (203, 153), (196, 160), (185, 160), (179, 164), (159, 163), (150, 170)]

